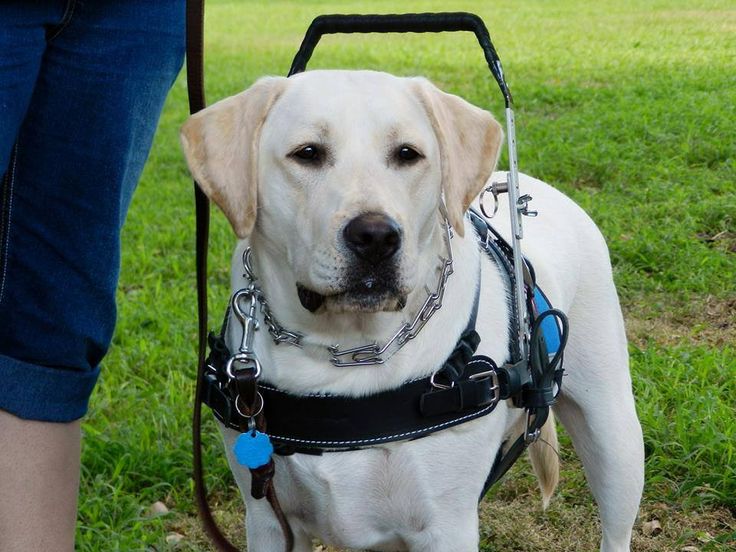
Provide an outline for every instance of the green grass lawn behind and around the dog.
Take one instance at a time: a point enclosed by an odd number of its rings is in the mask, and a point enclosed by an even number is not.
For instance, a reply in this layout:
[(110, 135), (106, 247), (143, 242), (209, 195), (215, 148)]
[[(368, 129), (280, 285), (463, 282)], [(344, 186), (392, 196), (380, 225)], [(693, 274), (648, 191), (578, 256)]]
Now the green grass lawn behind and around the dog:
[[(285, 74), (320, 13), (396, 9), (387, 1), (211, 0), (208, 100), (261, 75)], [(516, 101), (520, 167), (571, 195), (608, 240), (646, 441), (643, 516), (668, 516), (672, 526), (665, 526), (666, 541), (638, 536), (637, 549), (733, 549), (727, 544), (736, 511), (733, 4), (416, 1), (401, 9), (467, 10), (484, 18)], [(502, 118), (500, 94), (471, 35), (327, 37), (310, 67), (422, 74)], [(170, 531), (186, 535), (184, 549), (202, 549), (189, 479), (194, 221), (177, 139), (186, 115), (180, 79), (124, 231), (118, 328), (84, 423), (80, 550), (165, 550)], [(233, 244), (215, 215), (213, 325), (227, 298)], [(208, 484), (237, 531), (237, 494), (211, 422), (208, 434)], [(595, 523), (579, 465), (564, 442), (559, 497), (548, 514), (531, 516), (532, 531), (546, 524), (565, 535), (581, 519)], [(516, 469), (484, 508), (484, 519), (506, 506), (514, 516), (538, 511), (529, 496), (533, 487), (524, 468)], [(172, 512), (147, 517), (157, 500)], [(490, 518), (483, 526), (487, 551), (596, 546), (594, 525), (581, 523), (592, 535), (587, 541), (534, 547)], [(715, 520), (710, 537), (698, 525), (704, 519)]]

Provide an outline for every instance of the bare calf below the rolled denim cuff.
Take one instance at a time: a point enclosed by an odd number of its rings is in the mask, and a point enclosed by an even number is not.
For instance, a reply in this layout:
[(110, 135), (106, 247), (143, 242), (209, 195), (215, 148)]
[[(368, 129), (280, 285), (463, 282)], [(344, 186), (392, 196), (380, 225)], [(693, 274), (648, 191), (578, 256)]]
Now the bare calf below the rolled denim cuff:
[(74, 550), (81, 431), (0, 410), (0, 550)]

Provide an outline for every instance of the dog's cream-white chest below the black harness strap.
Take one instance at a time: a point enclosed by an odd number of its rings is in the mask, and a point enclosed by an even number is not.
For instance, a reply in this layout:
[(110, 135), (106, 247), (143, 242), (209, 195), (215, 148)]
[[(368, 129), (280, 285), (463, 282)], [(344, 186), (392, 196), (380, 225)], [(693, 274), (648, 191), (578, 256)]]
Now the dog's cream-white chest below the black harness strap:
[(500, 410), (417, 441), (280, 457), (276, 486), (285, 511), (328, 544), (404, 549), (474, 511), (500, 442)]

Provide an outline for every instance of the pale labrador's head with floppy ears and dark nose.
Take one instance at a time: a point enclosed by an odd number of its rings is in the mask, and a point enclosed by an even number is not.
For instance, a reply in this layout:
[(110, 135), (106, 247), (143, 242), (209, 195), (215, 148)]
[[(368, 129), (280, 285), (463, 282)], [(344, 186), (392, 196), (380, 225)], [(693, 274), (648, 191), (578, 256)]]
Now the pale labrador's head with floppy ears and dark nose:
[(443, 210), (463, 235), (502, 131), (424, 79), (311, 71), (263, 78), (181, 136), (238, 237), (283, 259), (302, 306), (320, 313), (403, 308), (437, 265)]

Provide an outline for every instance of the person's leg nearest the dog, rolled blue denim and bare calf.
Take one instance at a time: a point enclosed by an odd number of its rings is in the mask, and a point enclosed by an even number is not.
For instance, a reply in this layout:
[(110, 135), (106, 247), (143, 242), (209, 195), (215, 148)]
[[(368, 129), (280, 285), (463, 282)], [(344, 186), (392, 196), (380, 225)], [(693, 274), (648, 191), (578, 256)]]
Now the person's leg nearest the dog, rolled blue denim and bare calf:
[(47, 35), (0, 194), (0, 519), (26, 520), (0, 527), (0, 550), (70, 550), (73, 420), (110, 343), (120, 228), (184, 50), (184, 0), (68, 7)]

